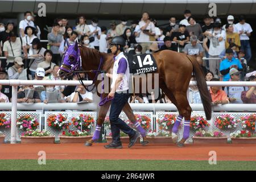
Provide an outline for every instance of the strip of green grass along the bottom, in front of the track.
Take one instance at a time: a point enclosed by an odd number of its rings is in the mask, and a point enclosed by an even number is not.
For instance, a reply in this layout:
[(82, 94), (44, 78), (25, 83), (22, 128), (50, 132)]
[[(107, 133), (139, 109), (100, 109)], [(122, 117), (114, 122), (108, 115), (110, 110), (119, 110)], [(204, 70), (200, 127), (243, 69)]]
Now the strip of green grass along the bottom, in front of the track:
[(0, 170), (256, 170), (256, 162), (219, 161), (210, 165), (208, 161), (191, 160), (0, 160)]

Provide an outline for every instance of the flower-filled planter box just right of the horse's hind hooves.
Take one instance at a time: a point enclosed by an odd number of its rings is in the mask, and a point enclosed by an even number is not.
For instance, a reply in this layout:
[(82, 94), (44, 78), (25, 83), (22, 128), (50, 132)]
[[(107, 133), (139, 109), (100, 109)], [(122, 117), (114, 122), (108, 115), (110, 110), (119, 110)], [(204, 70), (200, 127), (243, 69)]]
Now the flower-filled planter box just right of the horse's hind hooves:
[(222, 132), (213, 131), (206, 133), (204, 130), (196, 131), (193, 137), (193, 143), (227, 143), (228, 137), (224, 136)]

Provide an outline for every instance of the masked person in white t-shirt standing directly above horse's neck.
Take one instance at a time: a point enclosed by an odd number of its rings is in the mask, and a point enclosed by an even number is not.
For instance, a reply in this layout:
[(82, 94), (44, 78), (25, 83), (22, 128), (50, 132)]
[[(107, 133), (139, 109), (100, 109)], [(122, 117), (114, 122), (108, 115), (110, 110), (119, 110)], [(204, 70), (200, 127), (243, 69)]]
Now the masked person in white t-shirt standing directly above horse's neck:
[(92, 24), (89, 24), (90, 32), (89, 39), (90, 44), (94, 46), (95, 49), (100, 49), (100, 38), (101, 38), (101, 28), (98, 27), (98, 18), (92, 18)]

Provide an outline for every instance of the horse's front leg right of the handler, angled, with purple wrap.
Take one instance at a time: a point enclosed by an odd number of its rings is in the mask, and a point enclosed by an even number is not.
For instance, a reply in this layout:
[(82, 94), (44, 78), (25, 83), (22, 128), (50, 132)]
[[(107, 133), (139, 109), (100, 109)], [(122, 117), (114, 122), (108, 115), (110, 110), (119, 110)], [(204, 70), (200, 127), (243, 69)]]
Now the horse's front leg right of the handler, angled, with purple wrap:
[(131, 109), (129, 103), (126, 103), (126, 105), (123, 107), (123, 111), (127, 115), (128, 119), (133, 123), (135, 129), (139, 131), (139, 133), (141, 133), (143, 137), (142, 145), (146, 145), (148, 143), (148, 140), (146, 139), (146, 131), (141, 127), (141, 124), (136, 120), (135, 115), (133, 114), (133, 110)]

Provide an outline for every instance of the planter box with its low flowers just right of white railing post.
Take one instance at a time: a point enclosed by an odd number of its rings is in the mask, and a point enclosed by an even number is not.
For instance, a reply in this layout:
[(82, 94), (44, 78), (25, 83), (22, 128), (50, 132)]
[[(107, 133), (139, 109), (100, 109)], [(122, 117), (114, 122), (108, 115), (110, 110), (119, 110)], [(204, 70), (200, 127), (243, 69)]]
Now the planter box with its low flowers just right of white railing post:
[(22, 134), (21, 142), (22, 143), (54, 143), (55, 137), (49, 136), (47, 131), (40, 130), (29, 130)]

